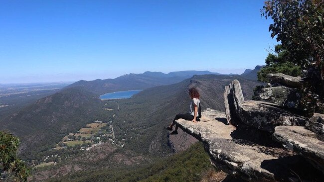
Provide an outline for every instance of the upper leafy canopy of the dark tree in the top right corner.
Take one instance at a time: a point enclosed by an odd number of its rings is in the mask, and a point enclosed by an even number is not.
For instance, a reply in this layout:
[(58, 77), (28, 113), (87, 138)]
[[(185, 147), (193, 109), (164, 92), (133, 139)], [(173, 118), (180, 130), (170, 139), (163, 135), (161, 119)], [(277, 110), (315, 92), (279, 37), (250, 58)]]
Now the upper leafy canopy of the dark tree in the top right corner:
[(262, 15), (271, 17), (271, 37), (289, 52), (289, 60), (303, 68), (315, 65), (324, 75), (324, 1), (267, 0)]

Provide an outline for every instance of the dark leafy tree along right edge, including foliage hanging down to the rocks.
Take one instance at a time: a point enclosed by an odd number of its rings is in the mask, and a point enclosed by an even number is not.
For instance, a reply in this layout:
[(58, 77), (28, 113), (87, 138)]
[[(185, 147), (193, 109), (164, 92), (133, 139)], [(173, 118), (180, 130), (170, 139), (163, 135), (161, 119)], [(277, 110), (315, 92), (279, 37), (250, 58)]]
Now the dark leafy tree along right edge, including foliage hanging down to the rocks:
[(286, 51), (287, 64), (307, 71), (301, 107), (310, 114), (323, 113), (324, 0), (267, 0), (261, 11), (262, 16), (273, 19), (269, 31)]

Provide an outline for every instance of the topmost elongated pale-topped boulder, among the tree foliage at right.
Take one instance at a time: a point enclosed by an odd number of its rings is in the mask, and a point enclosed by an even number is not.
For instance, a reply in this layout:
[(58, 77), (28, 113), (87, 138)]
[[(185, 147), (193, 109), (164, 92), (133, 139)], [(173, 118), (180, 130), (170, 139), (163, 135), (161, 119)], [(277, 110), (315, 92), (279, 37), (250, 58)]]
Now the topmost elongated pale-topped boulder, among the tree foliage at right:
[(281, 84), (290, 88), (300, 88), (303, 84), (301, 77), (292, 77), (282, 73), (268, 74), (268, 79), (271, 84)]

